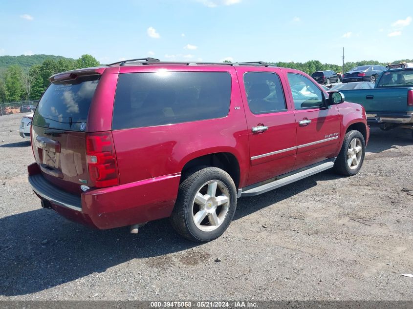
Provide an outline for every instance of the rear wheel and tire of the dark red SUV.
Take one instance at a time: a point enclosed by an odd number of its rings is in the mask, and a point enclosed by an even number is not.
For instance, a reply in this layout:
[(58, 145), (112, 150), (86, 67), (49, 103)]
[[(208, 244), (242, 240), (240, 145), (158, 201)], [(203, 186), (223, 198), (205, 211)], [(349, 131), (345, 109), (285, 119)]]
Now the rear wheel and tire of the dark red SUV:
[(193, 170), (179, 185), (171, 224), (182, 237), (209, 242), (221, 236), (237, 208), (231, 176), (217, 167)]

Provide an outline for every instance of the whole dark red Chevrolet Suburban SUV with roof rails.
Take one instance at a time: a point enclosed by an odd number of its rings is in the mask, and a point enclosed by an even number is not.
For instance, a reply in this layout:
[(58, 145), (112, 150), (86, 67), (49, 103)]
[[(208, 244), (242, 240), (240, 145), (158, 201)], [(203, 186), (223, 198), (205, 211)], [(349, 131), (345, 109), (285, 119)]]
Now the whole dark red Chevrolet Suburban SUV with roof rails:
[(29, 183), (43, 207), (100, 229), (170, 217), (183, 237), (210, 241), (240, 196), (330, 167), (356, 174), (369, 139), (361, 105), (262, 62), (140, 59), (50, 82)]

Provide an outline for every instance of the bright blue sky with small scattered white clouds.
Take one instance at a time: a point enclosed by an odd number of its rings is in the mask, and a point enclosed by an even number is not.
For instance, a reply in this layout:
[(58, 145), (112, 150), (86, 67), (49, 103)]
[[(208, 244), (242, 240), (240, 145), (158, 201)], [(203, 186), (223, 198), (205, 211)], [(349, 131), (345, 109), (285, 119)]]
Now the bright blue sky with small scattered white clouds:
[(2, 1), (0, 56), (91, 54), (102, 63), (342, 62), (413, 58), (411, 0)]

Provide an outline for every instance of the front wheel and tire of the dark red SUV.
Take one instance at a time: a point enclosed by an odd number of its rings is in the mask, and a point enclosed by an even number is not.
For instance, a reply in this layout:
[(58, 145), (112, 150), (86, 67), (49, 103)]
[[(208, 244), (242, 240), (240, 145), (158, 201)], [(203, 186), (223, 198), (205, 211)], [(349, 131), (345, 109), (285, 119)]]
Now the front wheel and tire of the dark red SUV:
[(335, 171), (345, 176), (357, 174), (363, 165), (365, 154), (366, 142), (363, 134), (356, 130), (347, 132), (334, 163)]

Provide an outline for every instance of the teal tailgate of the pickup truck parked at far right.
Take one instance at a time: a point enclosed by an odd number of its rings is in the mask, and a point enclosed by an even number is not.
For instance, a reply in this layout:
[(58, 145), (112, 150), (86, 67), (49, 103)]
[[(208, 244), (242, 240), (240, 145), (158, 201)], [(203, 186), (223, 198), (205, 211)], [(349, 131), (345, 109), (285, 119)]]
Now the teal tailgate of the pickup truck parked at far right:
[(368, 114), (406, 113), (407, 88), (339, 90), (347, 102), (359, 103)]

